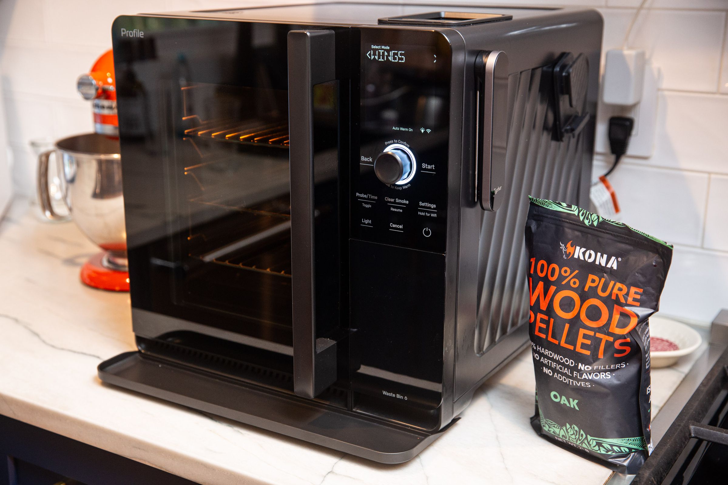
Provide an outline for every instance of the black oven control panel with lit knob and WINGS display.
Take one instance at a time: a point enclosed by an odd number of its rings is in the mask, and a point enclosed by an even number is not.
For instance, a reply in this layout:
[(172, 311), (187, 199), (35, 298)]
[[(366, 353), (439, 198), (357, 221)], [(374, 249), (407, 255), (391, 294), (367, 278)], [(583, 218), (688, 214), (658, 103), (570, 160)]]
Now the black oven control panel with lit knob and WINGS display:
[(351, 235), (444, 253), (450, 47), (432, 31), (396, 44), (391, 34), (389, 29), (362, 34)]

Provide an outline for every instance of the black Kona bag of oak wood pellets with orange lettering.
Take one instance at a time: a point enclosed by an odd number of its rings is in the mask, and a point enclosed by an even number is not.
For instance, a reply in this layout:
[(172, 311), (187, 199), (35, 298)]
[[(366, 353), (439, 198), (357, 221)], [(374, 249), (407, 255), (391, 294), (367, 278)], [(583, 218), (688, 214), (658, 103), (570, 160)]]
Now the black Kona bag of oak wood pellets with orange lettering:
[(526, 222), (540, 436), (622, 473), (650, 441), (649, 322), (672, 246), (571, 204), (531, 198)]

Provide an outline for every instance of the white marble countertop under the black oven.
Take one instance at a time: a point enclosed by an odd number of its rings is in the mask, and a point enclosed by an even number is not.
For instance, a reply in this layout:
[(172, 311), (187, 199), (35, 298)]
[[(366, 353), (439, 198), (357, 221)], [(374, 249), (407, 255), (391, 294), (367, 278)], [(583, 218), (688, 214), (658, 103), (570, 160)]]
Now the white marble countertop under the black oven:
[[(135, 348), (128, 294), (79, 281), (95, 252), (73, 223), (23, 200), (0, 223), (0, 414), (200, 484), (602, 485), (611, 472), (531, 429), (527, 351), (486, 382), (418, 457), (379, 465), (102, 385), (100, 361)], [(652, 373), (657, 412), (692, 361)]]

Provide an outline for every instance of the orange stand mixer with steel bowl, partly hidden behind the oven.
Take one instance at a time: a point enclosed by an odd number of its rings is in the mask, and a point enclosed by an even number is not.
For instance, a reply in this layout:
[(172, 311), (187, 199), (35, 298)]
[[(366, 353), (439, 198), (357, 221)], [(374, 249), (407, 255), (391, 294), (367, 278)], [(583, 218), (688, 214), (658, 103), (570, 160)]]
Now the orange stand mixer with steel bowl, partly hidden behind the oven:
[(39, 201), (44, 215), (65, 220), (50, 204), (48, 169), (55, 156), (60, 191), (68, 213), (79, 229), (103, 249), (81, 269), (81, 280), (93, 288), (129, 291), (119, 121), (116, 117), (114, 55), (111, 50), (96, 60), (90, 73), (76, 84), (86, 100), (93, 100), (94, 133), (64, 138), (55, 150), (39, 158)]

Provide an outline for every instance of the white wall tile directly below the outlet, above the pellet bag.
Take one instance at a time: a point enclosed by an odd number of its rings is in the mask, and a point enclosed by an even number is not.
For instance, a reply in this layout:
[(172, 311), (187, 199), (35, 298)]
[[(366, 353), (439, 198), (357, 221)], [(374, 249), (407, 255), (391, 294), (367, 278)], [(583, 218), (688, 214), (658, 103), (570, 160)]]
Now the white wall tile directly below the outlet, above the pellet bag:
[[(599, 157), (594, 175), (611, 159)], [(622, 209), (620, 220), (670, 244), (700, 246), (708, 175), (643, 167), (622, 162), (609, 175)], [(679, 223), (676, 223), (679, 221)]]

